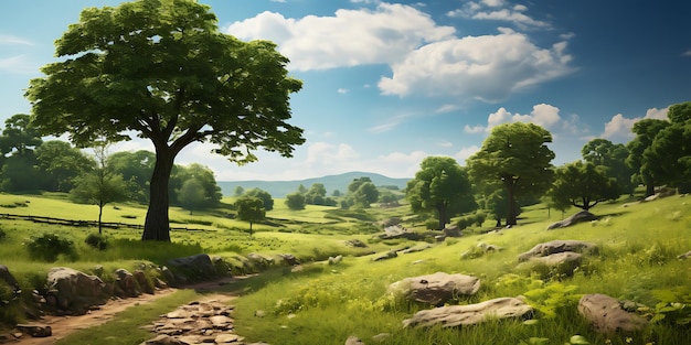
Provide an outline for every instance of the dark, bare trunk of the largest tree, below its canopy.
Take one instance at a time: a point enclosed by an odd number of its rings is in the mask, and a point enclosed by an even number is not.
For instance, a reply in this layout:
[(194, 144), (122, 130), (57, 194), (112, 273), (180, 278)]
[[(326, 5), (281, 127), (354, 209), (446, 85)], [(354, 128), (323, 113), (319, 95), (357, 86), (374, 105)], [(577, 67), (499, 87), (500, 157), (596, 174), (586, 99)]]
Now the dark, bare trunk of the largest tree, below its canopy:
[(170, 218), (168, 215), (168, 182), (176, 154), (170, 148), (156, 149), (156, 164), (151, 175), (149, 209), (143, 224), (142, 240), (170, 241)]

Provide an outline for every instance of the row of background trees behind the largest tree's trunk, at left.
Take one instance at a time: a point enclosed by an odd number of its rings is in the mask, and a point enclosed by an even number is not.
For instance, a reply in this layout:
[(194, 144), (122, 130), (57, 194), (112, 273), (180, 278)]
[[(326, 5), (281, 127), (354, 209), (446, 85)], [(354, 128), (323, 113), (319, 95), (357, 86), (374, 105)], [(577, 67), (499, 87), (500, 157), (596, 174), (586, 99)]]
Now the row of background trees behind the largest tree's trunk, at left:
[[(82, 203), (105, 200), (148, 203), (156, 154), (141, 150), (108, 154), (107, 145), (79, 150), (62, 140), (43, 141), (29, 115), (6, 120), (0, 136), (0, 190), (9, 193), (67, 192)], [(105, 193), (105, 194), (104, 194)], [(213, 172), (201, 164), (174, 165), (169, 197), (190, 211), (222, 197)]]

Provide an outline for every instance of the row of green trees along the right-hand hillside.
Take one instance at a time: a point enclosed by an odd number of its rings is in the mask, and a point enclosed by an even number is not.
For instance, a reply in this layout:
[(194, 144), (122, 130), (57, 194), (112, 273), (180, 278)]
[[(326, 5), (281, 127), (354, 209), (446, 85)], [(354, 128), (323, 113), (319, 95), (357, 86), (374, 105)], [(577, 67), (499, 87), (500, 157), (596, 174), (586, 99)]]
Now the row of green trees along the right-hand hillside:
[(493, 128), (479, 152), (460, 166), (456, 160), (429, 157), (406, 187), (414, 212), (436, 217), (437, 228), (450, 218), (479, 209), (500, 226), (515, 225), (521, 206), (546, 202), (556, 209), (589, 209), (600, 202), (634, 194), (646, 186), (691, 191), (691, 103), (673, 105), (668, 120), (644, 119), (627, 144), (594, 139), (582, 159), (552, 165), (552, 134), (534, 123)]

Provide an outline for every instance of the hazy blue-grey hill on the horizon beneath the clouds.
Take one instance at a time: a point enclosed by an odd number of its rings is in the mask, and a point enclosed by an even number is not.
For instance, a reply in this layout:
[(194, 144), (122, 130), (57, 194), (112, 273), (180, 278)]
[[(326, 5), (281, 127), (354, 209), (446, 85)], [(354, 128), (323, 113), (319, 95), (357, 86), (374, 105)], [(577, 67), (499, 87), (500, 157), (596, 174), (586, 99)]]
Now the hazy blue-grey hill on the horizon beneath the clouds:
[(336, 190), (344, 194), (348, 191), (348, 185), (353, 180), (360, 177), (370, 177), (375, 186), (395, 185), (400, 190), (405, 188), (405, 184), (408, 180), (411, 180), (392, 179), (375, 173), (353, 171), (340, 175), (329, 175), (296, 181), (219, 181), (217, 184), (225, 196), (232, 196), (235, 193), (235, 188), (237, 186), (242, 186), (245, 191), (261, 188), (272, 194), (273, 197), (283, 198), (286, 197), (286, 195), (296, 192), (300, 184), (309, 190), (313, 183), (322, 183), (327, 188), (327, 196), (330, 196)]

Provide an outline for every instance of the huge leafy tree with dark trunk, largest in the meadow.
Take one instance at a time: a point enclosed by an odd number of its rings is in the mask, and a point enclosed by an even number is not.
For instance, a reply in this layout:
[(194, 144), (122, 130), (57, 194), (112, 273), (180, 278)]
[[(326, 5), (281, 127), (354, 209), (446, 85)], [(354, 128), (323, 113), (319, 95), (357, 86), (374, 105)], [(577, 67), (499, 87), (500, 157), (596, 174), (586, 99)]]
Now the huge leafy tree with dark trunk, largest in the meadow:
[(138, 0), (85, 9), (55, 42), (60, 62), (42, 68), (26, 97), (44, 134), (151, 141), (156, 164), (142, 239), (170, 240), (168, 183), (178, 153), (210, 142), (230, 161), (256, 160), (264, 148), (291, 157), (305, 142), (290, 119), (301, 82), (267, 41), (242, 42), (219, 31), (209, 6), (193, 0)]

